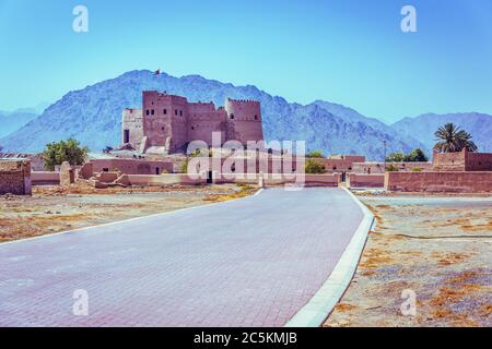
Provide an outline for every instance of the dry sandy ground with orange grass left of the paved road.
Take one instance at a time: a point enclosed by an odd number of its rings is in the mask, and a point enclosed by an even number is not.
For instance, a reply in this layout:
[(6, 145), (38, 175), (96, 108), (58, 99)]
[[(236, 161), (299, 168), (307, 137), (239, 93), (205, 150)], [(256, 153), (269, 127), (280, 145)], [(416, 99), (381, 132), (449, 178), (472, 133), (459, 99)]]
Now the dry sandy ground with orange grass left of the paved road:
[(256, 190), (235, 184), (34, 186), (32, 196), (0, 195), (0, 242), (243, 197)]

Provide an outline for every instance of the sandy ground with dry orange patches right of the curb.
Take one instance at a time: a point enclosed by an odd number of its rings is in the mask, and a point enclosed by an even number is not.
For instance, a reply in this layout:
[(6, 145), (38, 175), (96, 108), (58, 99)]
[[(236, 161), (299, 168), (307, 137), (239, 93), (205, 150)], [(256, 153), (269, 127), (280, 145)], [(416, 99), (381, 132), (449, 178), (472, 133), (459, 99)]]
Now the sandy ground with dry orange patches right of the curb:
[(325, 326), (492, 326), (491, 196), (359, 197), (377, 224)]

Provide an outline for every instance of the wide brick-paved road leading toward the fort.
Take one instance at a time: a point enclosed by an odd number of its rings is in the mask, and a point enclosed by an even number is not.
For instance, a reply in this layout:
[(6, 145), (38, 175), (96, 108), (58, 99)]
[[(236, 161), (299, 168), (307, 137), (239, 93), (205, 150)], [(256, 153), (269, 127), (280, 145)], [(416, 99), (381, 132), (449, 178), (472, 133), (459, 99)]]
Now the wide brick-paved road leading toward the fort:
[[(282, 326), (361, 219), (339, 189), (267, 190), (0, 244), (0, 326)], [(72, 313), (77, 289), (87, 316)]]

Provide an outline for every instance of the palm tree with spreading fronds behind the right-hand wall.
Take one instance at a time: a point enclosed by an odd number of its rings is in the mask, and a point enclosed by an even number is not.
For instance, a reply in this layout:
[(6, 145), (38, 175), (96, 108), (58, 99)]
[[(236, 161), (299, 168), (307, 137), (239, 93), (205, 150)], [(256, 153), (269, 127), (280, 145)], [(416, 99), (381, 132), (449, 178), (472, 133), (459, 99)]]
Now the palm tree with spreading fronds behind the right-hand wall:
[(440, 153), (455, 153), (467, 148), (469, 152), (476, 152), (477, 145), (471, 141), (471, 135), (465, 130), (460, 130), (454, 123), (446, 123), (434, 133), (437, 142), (434, 151)]

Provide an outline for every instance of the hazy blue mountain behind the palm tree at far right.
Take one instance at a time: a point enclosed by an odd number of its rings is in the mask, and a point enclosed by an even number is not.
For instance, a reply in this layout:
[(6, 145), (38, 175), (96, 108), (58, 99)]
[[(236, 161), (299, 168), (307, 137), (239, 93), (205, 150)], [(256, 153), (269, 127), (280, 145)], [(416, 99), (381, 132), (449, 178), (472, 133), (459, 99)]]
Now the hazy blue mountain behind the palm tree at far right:
[(415, 118), (401, 119), (391, 124), (391, 128), (403, 136), (415, 137), (425, 145), (427, 154), (432, 154), (435, 143), (434, 132), (448, 122), (453, 122), (470, 133), (479, 152), (492, 152), (492, 116), (487, 113), (425, 113)]

